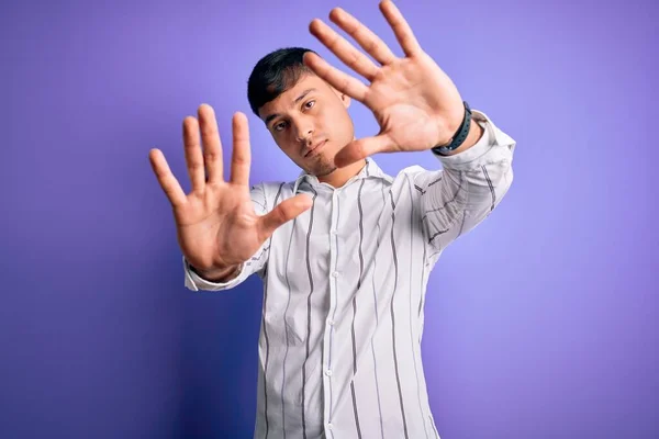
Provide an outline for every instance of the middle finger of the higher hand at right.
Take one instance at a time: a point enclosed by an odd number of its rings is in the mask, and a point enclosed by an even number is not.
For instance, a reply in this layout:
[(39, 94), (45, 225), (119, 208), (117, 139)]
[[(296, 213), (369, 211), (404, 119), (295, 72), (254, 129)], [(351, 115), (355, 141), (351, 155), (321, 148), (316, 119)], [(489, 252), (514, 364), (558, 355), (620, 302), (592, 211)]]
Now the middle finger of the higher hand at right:
[(346, 38), (337, 34), (332, 27), (321, 20), (314, 20), (309, 25), (311, 33), (321, 41), (338, 59), (344, 61), (353, 70), (372, 81), (378, 71), (375, 65), (365, 54), (357, 50)]

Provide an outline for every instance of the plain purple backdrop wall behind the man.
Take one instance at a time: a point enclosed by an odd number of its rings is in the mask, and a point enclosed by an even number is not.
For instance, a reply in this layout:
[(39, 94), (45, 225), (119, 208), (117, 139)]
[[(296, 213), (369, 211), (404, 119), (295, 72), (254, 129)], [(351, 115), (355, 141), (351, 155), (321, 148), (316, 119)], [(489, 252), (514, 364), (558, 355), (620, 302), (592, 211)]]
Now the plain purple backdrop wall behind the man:
[[(518, 143), (509, 195), (428, 286), (443, 439), (659, 437), (657, 3), (398, 4)], [(147, 154), (161, 148), (188, 191), (182, 119), (210, 103), (230, 145), (258, 58), (302, 45), (345, 70), (308, 32), (334, 5), (1, 3), (1, 438), (250, 437), (261, 283), (183, 288)], [(347, 10), (401, 53), (376, 1)], [(377, 132), (350, 111), (359, 137)], [(252, 180), (294, 178), (249, 121)]]

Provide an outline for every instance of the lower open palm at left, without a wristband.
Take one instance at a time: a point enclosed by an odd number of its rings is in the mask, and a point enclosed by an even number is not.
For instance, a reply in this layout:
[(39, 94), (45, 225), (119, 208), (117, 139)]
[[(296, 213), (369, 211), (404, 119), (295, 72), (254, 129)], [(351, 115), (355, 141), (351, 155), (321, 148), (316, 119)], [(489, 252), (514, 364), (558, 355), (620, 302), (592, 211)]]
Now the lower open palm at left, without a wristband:
[(233, 116), (231, 179), (224, 181), (215, 113), (210, 105), (202, 104), (198, 114), (199, 122), (192, 116), (183, 120), (186, 161), (192, 182), (188, 195), (159, 149), (149, 151), (149, 160), (171, 203), (178, 243), (188, 262), (202, 273), (231, 272), (232, 268), (252, 258), (279, 226), (311, 207), (312, 201), (299, 194), (281, 202), (266, 215), (257, 215), (249, 196), (247, 117), (239, 112)]

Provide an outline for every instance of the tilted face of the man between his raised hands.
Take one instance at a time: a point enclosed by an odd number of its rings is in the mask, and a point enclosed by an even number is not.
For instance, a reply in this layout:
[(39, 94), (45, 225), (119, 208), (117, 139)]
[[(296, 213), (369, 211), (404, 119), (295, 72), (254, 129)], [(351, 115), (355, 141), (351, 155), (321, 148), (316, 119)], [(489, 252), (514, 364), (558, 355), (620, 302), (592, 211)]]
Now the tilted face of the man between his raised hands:
[(350, 98), (306, 74), (263, 105), (259, 116), (291, 160), (308, 173), (324, 177), (336, 169), (336, 153), (355, 138), (349, 104)]

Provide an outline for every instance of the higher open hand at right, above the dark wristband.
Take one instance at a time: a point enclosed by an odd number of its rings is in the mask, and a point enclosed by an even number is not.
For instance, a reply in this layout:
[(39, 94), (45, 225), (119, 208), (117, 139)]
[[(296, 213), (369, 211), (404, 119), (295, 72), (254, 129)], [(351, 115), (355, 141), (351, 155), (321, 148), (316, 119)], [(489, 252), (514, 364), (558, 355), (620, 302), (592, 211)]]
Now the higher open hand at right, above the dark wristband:
[(330, 13), (330, 19), (380, 66), (321, 20), (310, 24), (311, 33), (370, 85), (332, 67), (311, 52), (305, 54), (304, 64), (338, 91), (368, 106), (380, 125), (378, 135), (354, 140), (336, 155), (339, 167), (377, 153), (426, 150), (445, 145), (465, 116), (456, 86), (421, 48), (399, 9), (391, 0), (384, 0), (380, 11), (405, 57), (394, 56), (378, 35), (340, 8)]

